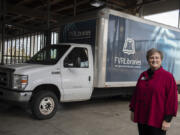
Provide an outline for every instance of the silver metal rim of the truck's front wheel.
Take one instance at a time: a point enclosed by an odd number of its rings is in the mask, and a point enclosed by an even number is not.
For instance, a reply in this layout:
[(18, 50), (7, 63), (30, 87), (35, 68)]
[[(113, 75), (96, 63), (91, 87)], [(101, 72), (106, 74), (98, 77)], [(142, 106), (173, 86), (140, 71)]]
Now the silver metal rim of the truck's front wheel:
[(41, 100), (39, 110), (43, 115), (49, 115), (53, 112), (55, 103), (52, 97), (45, 97)]

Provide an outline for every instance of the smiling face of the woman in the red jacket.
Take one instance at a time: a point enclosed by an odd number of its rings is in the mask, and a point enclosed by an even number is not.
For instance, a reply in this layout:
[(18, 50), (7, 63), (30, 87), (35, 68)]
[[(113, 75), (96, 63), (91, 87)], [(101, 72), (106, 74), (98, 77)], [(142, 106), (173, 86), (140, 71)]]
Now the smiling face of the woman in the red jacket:
[(153, 53), (148, 59), (149, 66), (152, 70), (157, 70), (161, 67), (161, 55), (157, 52)]

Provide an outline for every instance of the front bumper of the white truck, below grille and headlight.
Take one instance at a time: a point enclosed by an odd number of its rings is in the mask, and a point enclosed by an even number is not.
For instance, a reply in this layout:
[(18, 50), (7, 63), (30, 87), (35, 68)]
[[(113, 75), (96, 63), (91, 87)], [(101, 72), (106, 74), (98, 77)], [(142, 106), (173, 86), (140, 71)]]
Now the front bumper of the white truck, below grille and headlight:
[(0, 99), (5, 101), (29, 102), (31, 95), (31, 91), (15, 91), (11, 89), (0, 88)]

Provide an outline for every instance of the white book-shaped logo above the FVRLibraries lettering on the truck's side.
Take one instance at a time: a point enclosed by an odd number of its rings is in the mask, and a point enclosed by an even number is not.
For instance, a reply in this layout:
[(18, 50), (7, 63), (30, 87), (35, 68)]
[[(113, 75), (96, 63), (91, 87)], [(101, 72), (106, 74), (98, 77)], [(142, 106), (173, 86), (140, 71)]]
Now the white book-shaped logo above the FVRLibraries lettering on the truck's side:
[(135, 54), (135, 42), (132, 38), (127, 38), (123, 46), (123, 52), (130, 55)]

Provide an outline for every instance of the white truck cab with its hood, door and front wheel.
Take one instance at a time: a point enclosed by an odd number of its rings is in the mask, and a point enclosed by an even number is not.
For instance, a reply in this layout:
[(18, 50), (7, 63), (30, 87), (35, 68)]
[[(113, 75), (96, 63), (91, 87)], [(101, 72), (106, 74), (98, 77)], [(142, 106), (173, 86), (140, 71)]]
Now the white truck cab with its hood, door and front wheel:
[(90, 45), (50, 45), (23, 64), (0, 66), (0, 99), (29, 103), (37, 119), (51, 118), (58, 101), (88, 100), (93, 90)]

